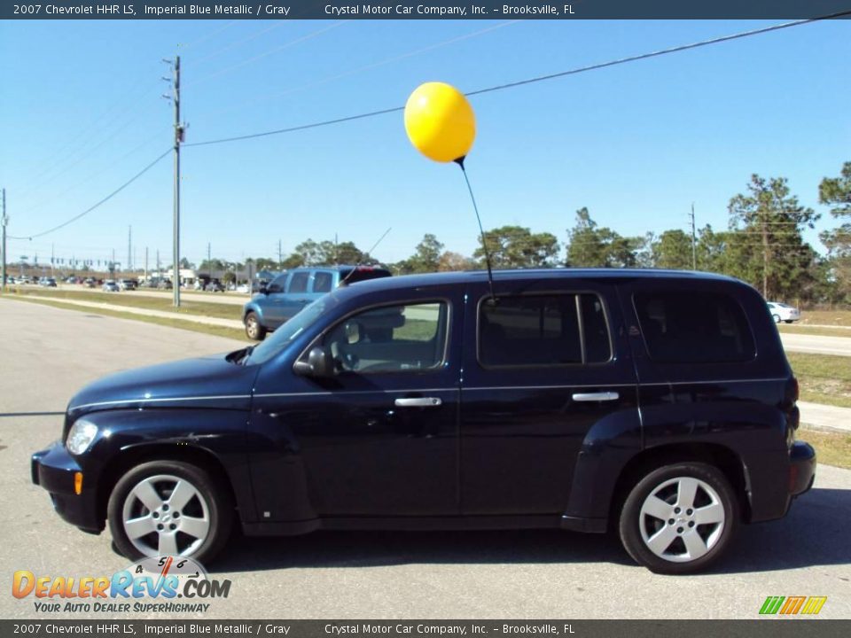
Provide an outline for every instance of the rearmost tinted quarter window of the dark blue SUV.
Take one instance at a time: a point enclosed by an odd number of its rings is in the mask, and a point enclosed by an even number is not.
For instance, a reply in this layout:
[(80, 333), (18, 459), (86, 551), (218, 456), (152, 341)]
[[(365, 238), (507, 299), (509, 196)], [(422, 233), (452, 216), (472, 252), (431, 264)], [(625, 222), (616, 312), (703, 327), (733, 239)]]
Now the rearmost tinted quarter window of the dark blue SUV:
[(715, 292), (641, 292), (634, 303), (647, 352), (662, 363), (753, 359), (756, 348), (742, 307)]

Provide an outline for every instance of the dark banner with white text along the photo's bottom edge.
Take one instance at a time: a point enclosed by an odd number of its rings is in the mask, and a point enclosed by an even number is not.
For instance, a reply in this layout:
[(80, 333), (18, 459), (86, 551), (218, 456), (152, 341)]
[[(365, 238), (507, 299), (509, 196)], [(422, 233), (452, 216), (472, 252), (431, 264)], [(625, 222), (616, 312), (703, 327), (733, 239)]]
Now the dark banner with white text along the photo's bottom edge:
[(0, 636), (566, 636), (845, 638), (851, 620), (0, 620)]

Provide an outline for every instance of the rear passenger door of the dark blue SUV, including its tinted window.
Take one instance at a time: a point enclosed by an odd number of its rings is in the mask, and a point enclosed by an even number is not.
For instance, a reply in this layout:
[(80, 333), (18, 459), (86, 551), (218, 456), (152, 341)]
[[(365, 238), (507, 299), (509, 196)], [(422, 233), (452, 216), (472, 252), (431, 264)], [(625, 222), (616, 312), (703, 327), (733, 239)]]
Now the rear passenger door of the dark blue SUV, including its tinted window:
[(563, 513), (593, 428), (624, 427), (636, 432), (625, 445), (640, 444), (620, 307), (595, 280), (499, 287), (496, 303), (472, 287), (466, 309), (462, 512)]

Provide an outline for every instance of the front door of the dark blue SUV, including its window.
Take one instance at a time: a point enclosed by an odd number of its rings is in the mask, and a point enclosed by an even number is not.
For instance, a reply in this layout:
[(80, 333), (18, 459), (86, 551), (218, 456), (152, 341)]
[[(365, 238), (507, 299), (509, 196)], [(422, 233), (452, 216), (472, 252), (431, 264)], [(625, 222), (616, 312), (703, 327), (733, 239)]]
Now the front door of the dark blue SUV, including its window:
[(264, 382), (256, 406), (292, 432), (316, 515), (457, 513), (458, 308), (421, 293), (356, 312), (314, 343), (333, 378), (293, 376), (280, 394)]

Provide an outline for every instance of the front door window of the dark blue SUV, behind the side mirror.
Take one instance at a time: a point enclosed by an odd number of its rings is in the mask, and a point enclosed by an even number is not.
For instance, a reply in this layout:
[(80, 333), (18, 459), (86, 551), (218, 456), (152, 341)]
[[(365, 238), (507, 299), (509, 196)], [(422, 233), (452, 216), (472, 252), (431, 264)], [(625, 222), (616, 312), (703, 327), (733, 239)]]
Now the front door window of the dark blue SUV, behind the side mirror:
[(371, 308), (338, 323), (323, 343), (340, 372), (430, 370), (443, 362), (448, 315), (443, 302)]

